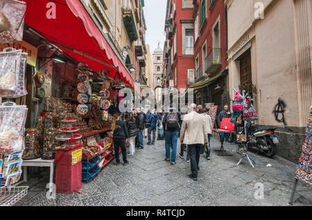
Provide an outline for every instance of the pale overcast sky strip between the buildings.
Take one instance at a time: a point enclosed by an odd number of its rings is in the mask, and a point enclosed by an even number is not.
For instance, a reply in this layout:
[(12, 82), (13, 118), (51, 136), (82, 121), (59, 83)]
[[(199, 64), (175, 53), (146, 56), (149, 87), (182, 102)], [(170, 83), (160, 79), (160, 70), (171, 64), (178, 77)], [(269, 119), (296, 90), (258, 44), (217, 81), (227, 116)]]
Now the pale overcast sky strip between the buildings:
[(166, 16), (166, 0), (145, 0), (144, 16), (146, 19), (146, 44), (150, 44), (150, 53), (157, 48), (164, 49), (164, 19)]

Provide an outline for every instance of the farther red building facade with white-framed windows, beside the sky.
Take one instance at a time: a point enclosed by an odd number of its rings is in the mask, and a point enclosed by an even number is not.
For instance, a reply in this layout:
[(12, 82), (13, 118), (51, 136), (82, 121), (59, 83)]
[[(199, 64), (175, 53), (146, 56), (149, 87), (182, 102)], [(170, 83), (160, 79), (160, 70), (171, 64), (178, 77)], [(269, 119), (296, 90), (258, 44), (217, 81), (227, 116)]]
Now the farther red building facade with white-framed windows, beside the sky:
[(186, 89), (193, 74), (193, 1), (168, 0), (164, 44), (164, 87)]

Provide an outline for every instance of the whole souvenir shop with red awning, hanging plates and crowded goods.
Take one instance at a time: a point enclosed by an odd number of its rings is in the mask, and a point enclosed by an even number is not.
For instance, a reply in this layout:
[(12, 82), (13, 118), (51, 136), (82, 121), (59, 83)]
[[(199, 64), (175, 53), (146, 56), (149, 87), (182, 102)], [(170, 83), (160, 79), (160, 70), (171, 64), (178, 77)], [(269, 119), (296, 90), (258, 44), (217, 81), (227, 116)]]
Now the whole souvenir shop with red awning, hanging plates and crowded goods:
[(53, 21), (45, 4), (0, 2), (0, 206), (27, 194), (28, 167), (49, 167), (57, 193), (78, 191), (114, 159), (120, 90), (141, 95), (81, 4), (58, 5)]

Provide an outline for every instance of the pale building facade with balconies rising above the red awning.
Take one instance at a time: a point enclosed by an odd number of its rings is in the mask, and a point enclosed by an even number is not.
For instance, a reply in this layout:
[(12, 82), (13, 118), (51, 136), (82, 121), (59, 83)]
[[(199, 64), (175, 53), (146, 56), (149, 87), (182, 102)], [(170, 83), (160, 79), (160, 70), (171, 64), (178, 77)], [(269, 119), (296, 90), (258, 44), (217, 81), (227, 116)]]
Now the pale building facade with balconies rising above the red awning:
[(146, 22), (144, 0), (83, 0), (89, 15), (132, 77), (140, 85), (146, 85)]

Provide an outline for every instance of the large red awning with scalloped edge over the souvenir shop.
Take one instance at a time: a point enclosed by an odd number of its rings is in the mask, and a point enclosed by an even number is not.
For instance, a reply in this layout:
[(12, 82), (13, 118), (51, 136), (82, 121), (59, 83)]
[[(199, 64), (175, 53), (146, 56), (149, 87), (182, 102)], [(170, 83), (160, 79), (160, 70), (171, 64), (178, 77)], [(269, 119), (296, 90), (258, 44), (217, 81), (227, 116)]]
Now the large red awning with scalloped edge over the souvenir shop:
[[(79, 0), (23, 1), (27, 3), (25, 24), (47, 40), (62, 45), (62, 51), (78, 62), (87, 62), (90, 69), (98, 72), (105, 67), (110, 71), (111, 78), (119, 71), (125, 83), (141, 94), (140, 87)], [(51, 10), (47, 4), (51, 2), (55, 3), (55, 19), (46, 17)]]

